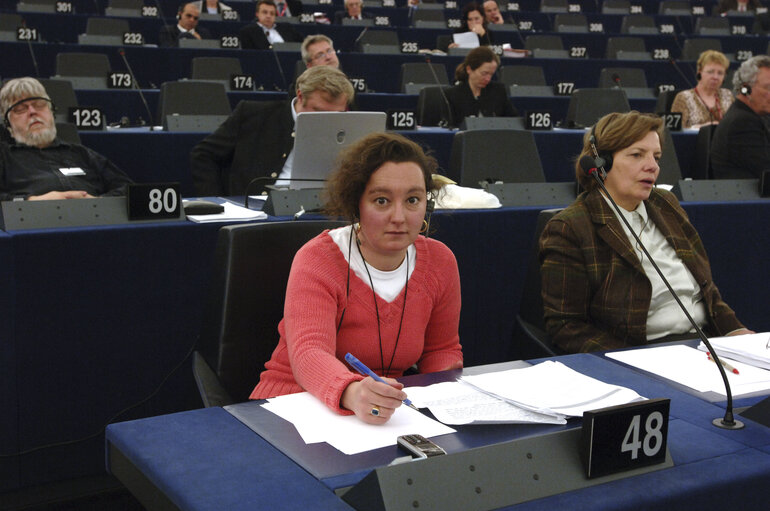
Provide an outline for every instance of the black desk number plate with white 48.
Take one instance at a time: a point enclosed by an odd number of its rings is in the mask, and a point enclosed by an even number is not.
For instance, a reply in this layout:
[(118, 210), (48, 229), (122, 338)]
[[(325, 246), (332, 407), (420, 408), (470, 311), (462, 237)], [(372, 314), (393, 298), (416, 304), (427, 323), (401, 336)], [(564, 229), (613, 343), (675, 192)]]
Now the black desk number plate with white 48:
[(649, 399), (583, 414), (580, 453), (586, 476), (666, 461), (670, 399)]

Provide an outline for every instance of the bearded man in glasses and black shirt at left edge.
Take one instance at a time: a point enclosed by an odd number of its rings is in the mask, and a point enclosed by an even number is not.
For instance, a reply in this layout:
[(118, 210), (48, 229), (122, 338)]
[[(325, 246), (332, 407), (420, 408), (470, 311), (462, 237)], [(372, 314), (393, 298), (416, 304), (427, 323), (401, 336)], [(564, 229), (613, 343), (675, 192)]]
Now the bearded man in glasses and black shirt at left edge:
[(104, 156), (56, 138), (53, 104), (34, 78), (0, 90), (12, 142), (0, 143), (0, 200), (82, 199), (124, 195), (131, 183)]

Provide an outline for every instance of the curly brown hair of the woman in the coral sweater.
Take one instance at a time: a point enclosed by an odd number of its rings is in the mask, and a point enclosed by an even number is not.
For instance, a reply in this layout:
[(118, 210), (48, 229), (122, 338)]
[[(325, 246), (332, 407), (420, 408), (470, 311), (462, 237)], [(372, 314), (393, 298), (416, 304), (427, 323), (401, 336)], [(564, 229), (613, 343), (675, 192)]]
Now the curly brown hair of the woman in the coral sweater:
[(372, 133), (341, 152), (337, 166), (326, 182), (326, 213), (358, 220), (358, 205), (369, 178), (387, 162), (415, 163), (425, 178), (425, 190), (430, 194), (436, 189), (431, 178), (438, 167), (435, 158), (401, 135)]

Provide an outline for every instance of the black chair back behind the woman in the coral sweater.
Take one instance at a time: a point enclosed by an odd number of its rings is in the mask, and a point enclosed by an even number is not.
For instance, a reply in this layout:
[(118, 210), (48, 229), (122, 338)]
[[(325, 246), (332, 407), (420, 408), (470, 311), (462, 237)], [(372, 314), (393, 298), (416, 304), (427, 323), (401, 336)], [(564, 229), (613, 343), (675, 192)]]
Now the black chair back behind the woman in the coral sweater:
[[(204, 405), (248, 399), (278, 344), (294, 254), (324, 229), (344, 225), (340, 221), (265, 222), (220, 229), (211, 297), (193, 369)], [(210, 368), (221, 389), (216, 381), (213, 386), (207, 384), (201, 367)]]

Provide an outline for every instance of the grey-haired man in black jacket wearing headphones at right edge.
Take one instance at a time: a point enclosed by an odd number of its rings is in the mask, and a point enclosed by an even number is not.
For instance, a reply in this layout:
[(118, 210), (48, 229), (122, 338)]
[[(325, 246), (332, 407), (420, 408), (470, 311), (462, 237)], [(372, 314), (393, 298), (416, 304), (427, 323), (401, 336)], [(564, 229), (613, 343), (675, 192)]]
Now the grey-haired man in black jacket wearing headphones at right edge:
[(743, 62), (733, 90), (736, 100), (711, 140), (711, 168), (718, 179), (758, 179), (770, 170), (770, 57)]

